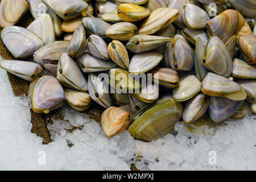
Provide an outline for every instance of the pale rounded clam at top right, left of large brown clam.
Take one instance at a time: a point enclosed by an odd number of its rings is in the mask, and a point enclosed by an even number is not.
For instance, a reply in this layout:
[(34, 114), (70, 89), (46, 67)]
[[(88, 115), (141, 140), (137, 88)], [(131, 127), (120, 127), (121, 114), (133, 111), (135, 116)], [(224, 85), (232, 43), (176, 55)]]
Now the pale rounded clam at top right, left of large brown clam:
[(187, 3), (184, 7), (183, 21), (192, 29), (203, 29), (210, 20), (208, 13), (200, 7)]

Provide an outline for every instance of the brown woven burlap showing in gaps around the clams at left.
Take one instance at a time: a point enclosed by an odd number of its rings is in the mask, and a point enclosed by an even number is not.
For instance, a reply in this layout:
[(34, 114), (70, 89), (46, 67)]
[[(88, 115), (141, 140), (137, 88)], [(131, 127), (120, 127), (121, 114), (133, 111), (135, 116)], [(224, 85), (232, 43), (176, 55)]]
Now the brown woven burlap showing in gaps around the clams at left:
[[(0, 0), (1, 2), (1, 0)], [(27, 13), (20, 19), (20, 21), (15, 24), (16, 26), (21, 26), (24, 28), (27, 28), (27, 26), (33, 21), (32, 15), (30, 14), (30, 11), (27, 11)], [(0, 28), (0, 34), (2, 32), (2, 29)], [(13, 60), (14, 57), (11, 55), (11, 53), (6, 49), (5, 45), (2, 42), (2, 39), (0, 38), (0, 55), (2, 56), (2, 59), (7, 60)], [(11, 88), (13, 89), (13, 93), (15, 96), (21, 96), (25, 94), (28, 95), (29, 90), (29, 84), (30, 82), (23, 80), (22, 78), (16, 77), (15, 75), (12, 75), (11, 73), (7, 72)], [(31, 109), (31, 123), (32, 123), (32, 129), (31, 133), (34, 133), (40, 137), (43, 138), (43, 144), (48, 144), (51, 142), (49, 131), (47, 129), (47, 123), (44, 118), (44, 114), (38, 114), (34, 113), (34, 111)], [(97, 122), (100, 122), (101, 113), (103, 112), (103, 109), (96, 104), (93, 104), (89, 110), (87, 110), (85, 113), (89, 114), (90, 119), (94, 119)]]

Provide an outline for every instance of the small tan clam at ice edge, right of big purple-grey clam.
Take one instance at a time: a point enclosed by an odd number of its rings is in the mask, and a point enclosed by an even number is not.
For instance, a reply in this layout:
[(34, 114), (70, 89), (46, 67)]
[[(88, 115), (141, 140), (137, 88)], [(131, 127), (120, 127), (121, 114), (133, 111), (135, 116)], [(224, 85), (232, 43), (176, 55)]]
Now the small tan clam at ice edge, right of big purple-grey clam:
[(65, 88), (64, 93), (65, 101), (77, 111), (85, 111), (92, 105), (90, 95), (86, 92)]

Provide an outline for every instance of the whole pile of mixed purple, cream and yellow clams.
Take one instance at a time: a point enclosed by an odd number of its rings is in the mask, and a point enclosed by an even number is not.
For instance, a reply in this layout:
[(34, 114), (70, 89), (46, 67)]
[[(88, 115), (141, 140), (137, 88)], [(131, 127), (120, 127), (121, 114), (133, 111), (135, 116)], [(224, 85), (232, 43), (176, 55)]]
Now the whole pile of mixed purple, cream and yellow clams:
[[(28, 9), (34, 22), (14, 26)], [(2, 0), (1, 38), (17, 60), (0, 66), (31, 81), (36, 113), (94, 101), (106, 136), (152, 141), (181, 118), (241, 119), (245, 101), (255, 114), (255, 17), (255, 0)], [(119, 76), (142, 73), (146, 86)]]

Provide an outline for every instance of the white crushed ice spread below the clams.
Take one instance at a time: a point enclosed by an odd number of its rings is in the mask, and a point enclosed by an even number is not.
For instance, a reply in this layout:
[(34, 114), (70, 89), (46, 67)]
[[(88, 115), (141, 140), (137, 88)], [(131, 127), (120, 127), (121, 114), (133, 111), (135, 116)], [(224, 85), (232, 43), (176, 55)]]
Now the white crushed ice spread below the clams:
[[(14, 97), (2, 69), (0, 84), (0, 169), (130, 170), (131, 163), (142, 170), (256, 169), (255, 115), (227, 121), (213, 136), (192, 135), (177, 123), (177, 135), (147, 143), (139, 161), (128, 131), (107, 138), (99, 123), (67, 105), (48, 118), (53, 142), (43, 145), (30, 133), (30, 98)], [(210, 151), (216, 152), (216, 164), (209, 163)]]

